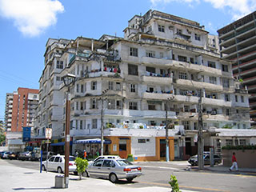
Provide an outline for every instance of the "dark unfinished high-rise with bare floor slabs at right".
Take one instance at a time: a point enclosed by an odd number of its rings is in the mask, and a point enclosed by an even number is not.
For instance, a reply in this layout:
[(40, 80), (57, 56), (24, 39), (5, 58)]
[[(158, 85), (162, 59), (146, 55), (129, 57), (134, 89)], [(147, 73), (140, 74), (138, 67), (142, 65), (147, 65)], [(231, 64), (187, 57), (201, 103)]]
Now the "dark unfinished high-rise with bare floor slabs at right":
[(250, 94), (250, 118), (256, 126), (256, 11), (218, 30), (221, 56), (233, 62), (234, 77)]

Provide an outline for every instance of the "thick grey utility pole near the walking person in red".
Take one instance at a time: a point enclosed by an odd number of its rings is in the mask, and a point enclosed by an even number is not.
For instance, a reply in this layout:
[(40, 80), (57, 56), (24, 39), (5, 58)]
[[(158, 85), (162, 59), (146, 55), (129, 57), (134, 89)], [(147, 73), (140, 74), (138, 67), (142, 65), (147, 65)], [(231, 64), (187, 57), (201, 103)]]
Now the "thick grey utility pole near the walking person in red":
[(203, 170), (203, 138), (202, 138), (202, 94), (203, 90), (200, 90), (198, 100), (198, 170)]

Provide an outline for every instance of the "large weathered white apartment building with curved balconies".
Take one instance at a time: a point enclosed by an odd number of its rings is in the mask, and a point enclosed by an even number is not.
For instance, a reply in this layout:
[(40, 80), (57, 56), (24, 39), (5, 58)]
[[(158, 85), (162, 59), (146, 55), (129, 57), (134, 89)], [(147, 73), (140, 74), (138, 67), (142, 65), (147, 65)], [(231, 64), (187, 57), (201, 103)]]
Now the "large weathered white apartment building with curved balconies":
[[(73, 153), (99, 150), (92, 138), (100, 137), (103, 125), (104, 153), (164, 159), (167, 119), (167, 127), (174, 125), (168, 134), (170, 159), (186, 159), (197, 153), (200, 93), (205, 150), (217, 151), (226, 143), (218, 128), (250, 128), (247, 91), (234, 81), (231, 62), (219, 57), (216, 38), (198, 22), (149, 10), (130, 19), (124, 38), (102, 35), (65, 41), (65, 46), (62, 39), (46, 44), (46, 61), (51, 64), (46, 64), (40, 78), (37, 129), (40, 134), (50, 125), (46, 114), (54, 116), (54, 110), (49, 111), (56, 107), (61, 119), (52, 128), (56, 138), (63, 138), (67, 87), (57, 77), (74, 74), (70, 86)], [(49, 62), (50, 53), (57, 50), (59, 56)], [(57, 69), (58, 63), (62, 69)], [(47, 97), (50, 81), (56, 90)], [(58, 145), (61, 142), (52, 144)]]

